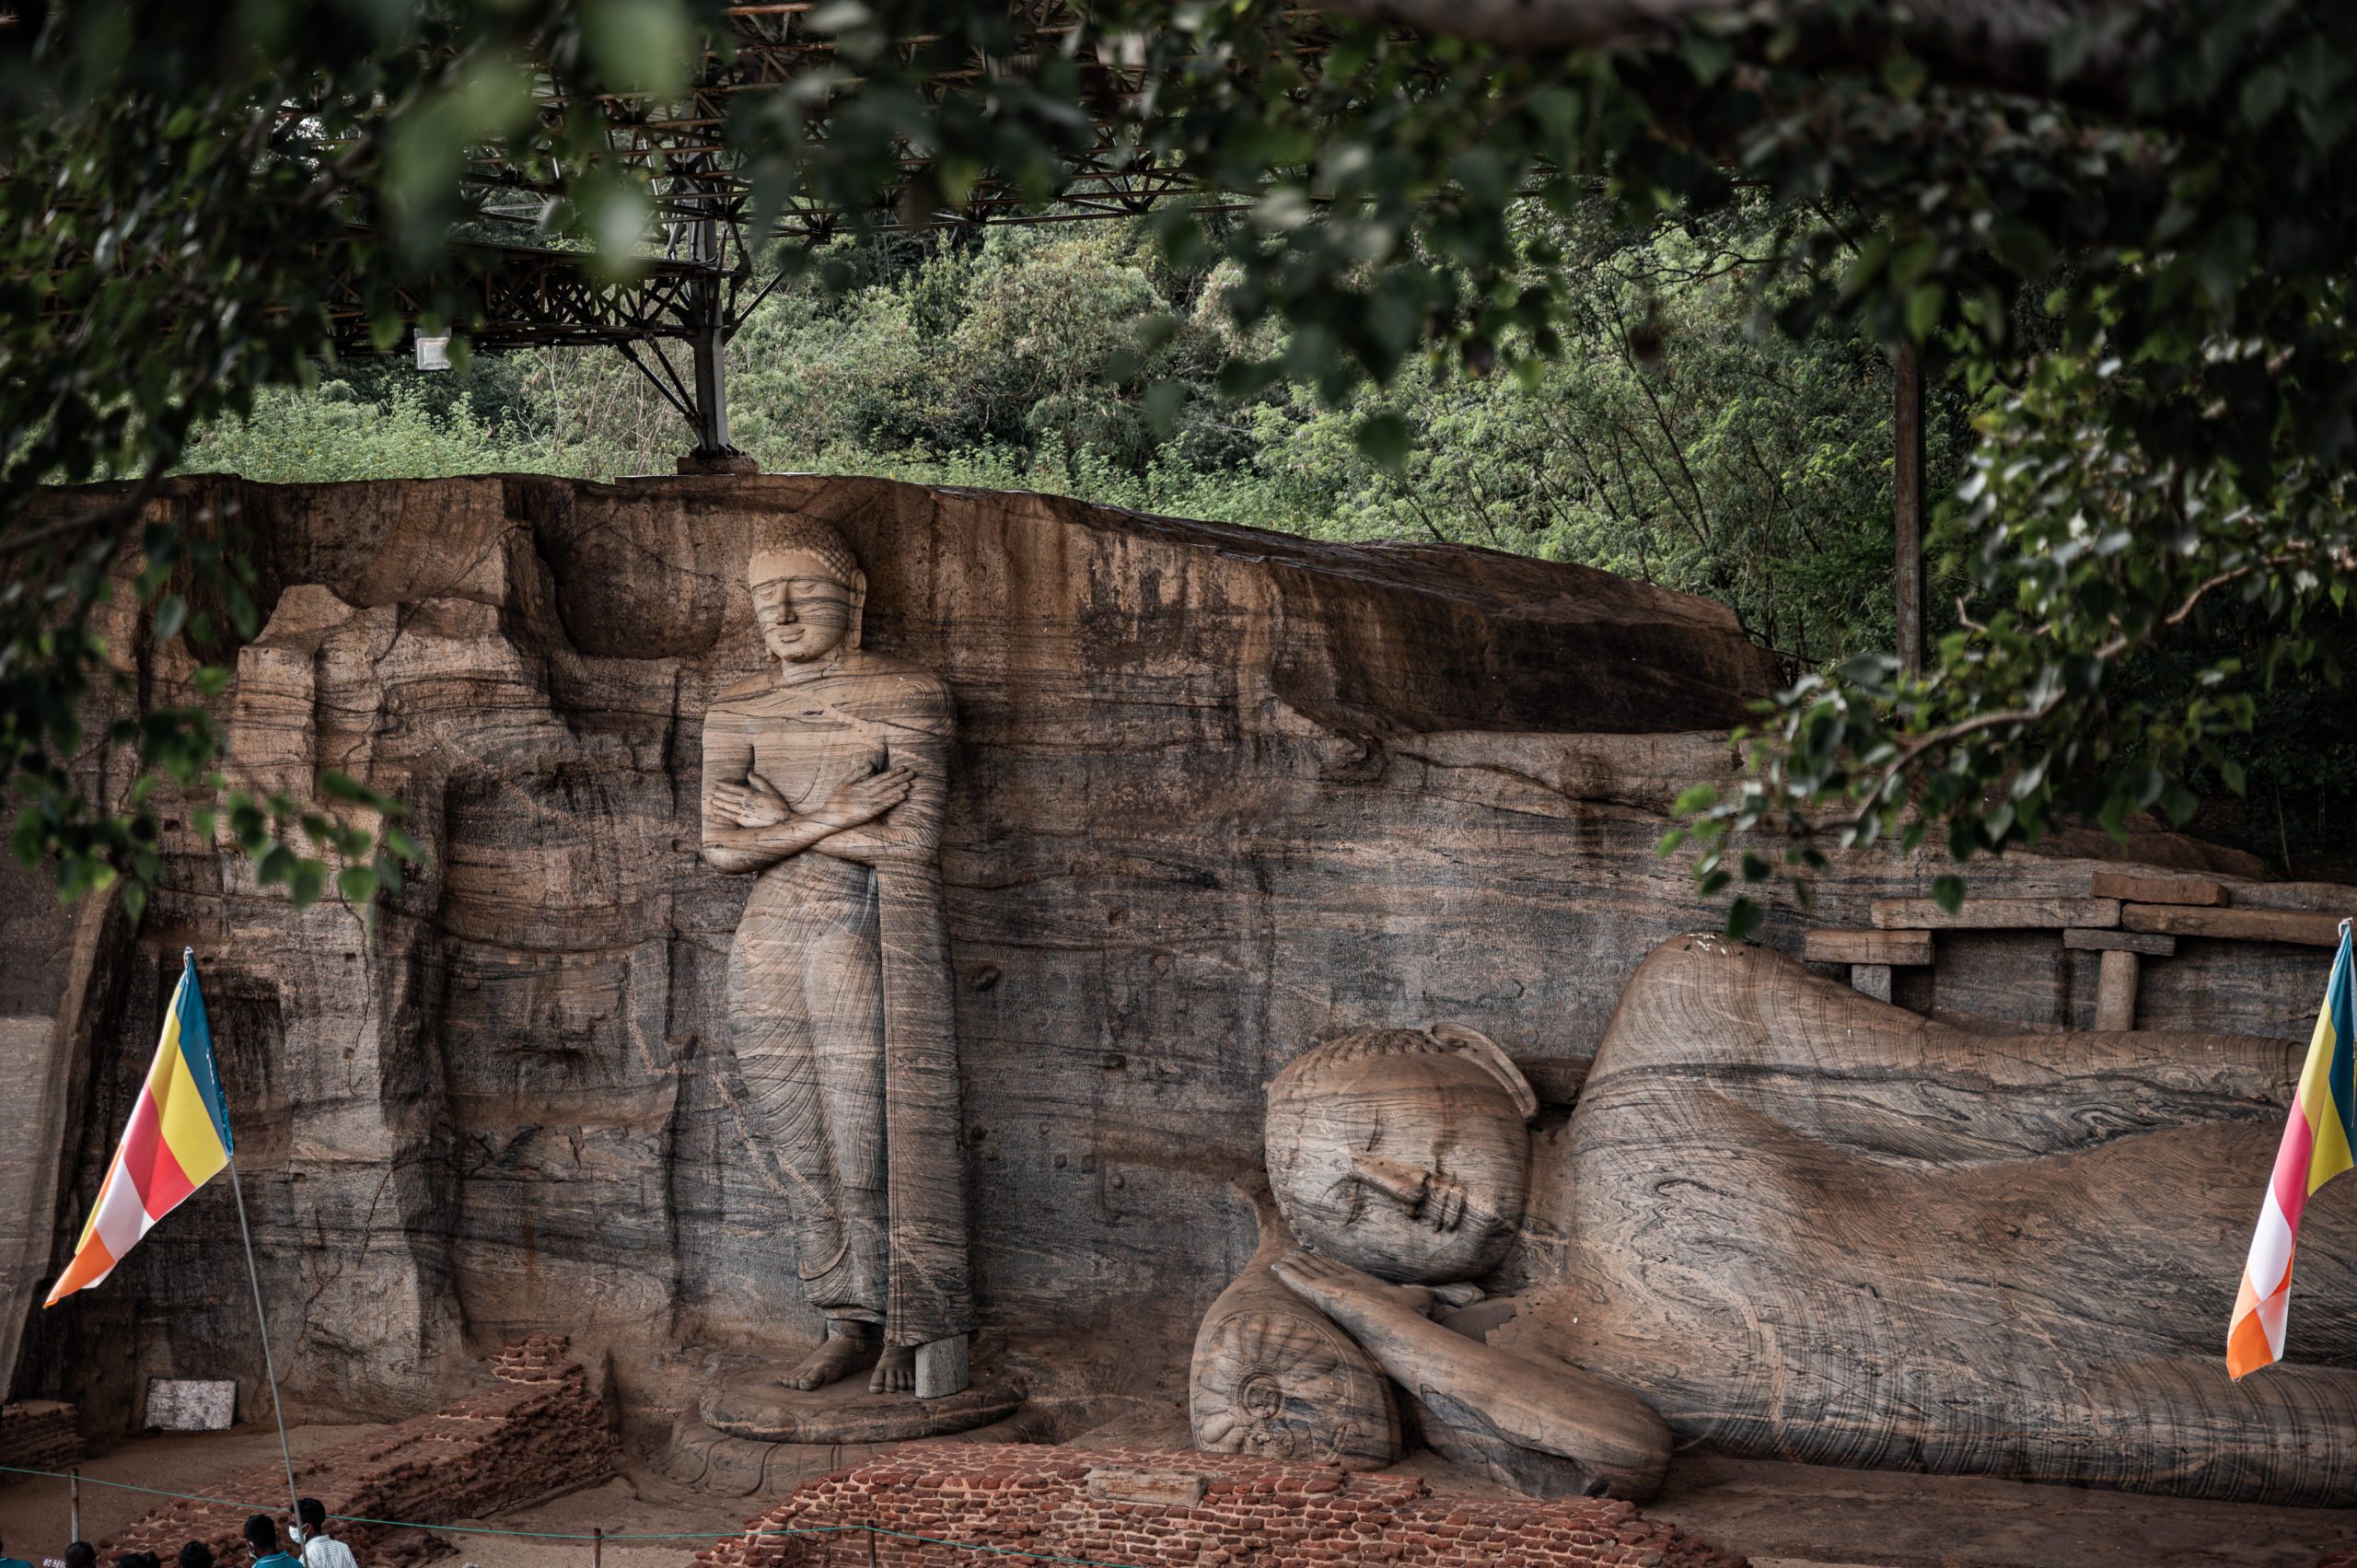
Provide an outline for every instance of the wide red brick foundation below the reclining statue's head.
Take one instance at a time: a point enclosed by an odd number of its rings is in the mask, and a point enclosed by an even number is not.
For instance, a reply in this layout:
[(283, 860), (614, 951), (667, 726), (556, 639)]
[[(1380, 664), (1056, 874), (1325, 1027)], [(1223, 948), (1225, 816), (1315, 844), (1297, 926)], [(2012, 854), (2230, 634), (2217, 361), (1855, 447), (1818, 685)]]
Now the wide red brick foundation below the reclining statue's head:
[[(1742, 1568), (1742, 1559), (1643, 1518), (1626, 1502), (1435, 1497), (1412, 1476), (1353, 1476), (1183, 1450), (910, 1443), (820, 1476), (695, 1561), (700, 1568), (1021, 1568), (999, 1551), (1138, 1568), (1379, 1563), (1424, 1568)], [(886, 1535), (886, 1530), (896, 1535)]]

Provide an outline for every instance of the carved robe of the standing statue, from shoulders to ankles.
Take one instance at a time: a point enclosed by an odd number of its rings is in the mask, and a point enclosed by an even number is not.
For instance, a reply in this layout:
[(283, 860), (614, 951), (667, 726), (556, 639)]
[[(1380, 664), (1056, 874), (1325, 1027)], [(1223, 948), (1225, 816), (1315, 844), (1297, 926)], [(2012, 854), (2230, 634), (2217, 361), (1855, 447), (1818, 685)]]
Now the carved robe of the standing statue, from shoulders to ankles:
[(917, 773), (879, 823), (764, 870), (728, 953), (738, 1068), (808, 1299), (893, 1344), (973, 1327), (938, 870), (950, 731), (948, 686), (872, 653), (764, 672), (705, 717), (707, 797), (757, 776), (804, 813), (886, 764)]

